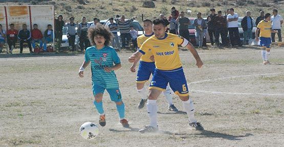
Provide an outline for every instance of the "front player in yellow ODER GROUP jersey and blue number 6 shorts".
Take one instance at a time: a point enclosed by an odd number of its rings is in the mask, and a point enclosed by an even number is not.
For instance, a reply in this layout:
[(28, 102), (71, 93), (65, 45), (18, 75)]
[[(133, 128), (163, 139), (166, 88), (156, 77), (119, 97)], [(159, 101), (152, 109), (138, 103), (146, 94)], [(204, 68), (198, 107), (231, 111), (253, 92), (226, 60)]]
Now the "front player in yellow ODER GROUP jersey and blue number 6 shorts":
[(139, 130), (141, 133), (158, 131), (157, 123), (157, 99), (169, 83), (171, 89), (179, 95), (183, 102), (184, 109), (188, 115), (189, 126), (196, 130), (203, 130), (200, 122), (194, 118), (193, 103), (189, 97), (188, 87), (183, 72), (182, 63), (179, 57), (178, 45), (186, 46), (196, 60), (196, 65), (201, 68), (201, 61), (195, 48), (188, 40), (178, 35), (165, 33), (167, 27), (161, 19), (153, 21), (154, 34), (147, 39), (139, 51), (128, 58), (129, 62), (136, 62), (142, 55), (153, 54), (155, 57), (155, 71), (150, 84), (147, 111), (150, 118), (150, 125)]

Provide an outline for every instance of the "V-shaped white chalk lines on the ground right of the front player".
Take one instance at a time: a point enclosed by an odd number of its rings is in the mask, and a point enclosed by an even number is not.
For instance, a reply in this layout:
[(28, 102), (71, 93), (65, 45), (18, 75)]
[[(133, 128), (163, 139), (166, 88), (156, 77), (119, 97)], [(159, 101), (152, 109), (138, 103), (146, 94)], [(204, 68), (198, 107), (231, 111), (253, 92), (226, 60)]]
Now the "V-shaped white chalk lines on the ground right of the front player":
[[(267, 76), (267, 75), (279, 75), (282, 74), (282, 72), (276, 72), (276, 73), (270, 73), (270, 74), (256, 74), (256, 75), (244, 75), (244, 76), (232, 76), (232, 77), (224, 77), (224, 78), (215, 78), (215, 79), (208, 79), (208, 80), (201, 80), (196, 82), (190, 82), (189, 84), (196, 84), (196, 83), (202, 83), (202, 82), (208, 82), (208, 81), (214, 81), (214, 80), (223, 80), (223, 79), (231, 79), (231, 78), (242, 78), (242, 77), (254, 77), (254, 76)], [(220, 91), (206, 91), (206, 90), (194, 90), (190, 89), (189, 91), (192, 92), (203, 92), (203, 93), (212, 93), (212, 94), (229, 94), (229, 95), (276, 95), (276, 96), (282, 96), (284, 93), (239, 93), (239, 92), (220, 92)]]

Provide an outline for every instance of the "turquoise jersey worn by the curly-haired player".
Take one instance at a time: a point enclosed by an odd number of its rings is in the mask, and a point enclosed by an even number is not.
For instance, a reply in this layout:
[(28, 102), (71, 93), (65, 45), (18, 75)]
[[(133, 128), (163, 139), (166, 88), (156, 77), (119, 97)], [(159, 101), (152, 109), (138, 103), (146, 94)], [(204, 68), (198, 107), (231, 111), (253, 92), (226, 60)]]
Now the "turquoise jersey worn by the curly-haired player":
[(105, 89), (119, 87), (114, 70), (111, 72), (104, 71), (105, 67), (120, 63), (114, 48), (104, 46), (101, 50), (97, 50), (96, 46), (88, 47), (85, 52), (85, 61), (91, 61), (93, 85), (100, 85)]

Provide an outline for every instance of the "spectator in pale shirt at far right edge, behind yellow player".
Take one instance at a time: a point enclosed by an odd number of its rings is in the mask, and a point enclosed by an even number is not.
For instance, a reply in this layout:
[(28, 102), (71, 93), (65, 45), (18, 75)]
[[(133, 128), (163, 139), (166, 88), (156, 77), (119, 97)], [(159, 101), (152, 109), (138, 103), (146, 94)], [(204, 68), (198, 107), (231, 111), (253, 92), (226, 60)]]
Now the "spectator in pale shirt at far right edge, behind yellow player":
[[(281, 36), (281, 26), (283, 24), (283, 18), (282, 16), (278, 15), (278, 10), (273, 9), (271, 16), (271, 22), (272, 22), (272, 30), (278, 31), (278, 41), (282, 42), (282, 36)], [(275, 33), (271, 33), (271, 39), (272, 42), (275, 42)]]

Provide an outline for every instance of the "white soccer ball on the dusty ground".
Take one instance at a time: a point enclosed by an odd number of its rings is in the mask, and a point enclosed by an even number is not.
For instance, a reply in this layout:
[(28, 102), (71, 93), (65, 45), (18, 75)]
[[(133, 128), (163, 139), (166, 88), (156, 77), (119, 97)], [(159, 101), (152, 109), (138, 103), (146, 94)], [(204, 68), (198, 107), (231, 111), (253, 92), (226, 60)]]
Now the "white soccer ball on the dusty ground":
[(98, 134), (99, 134), (99, 127), (92, 122), (85, 122), (80, 127), (80, 135), (87, 140), (94, 139), (95, 137), (98, 136)]

